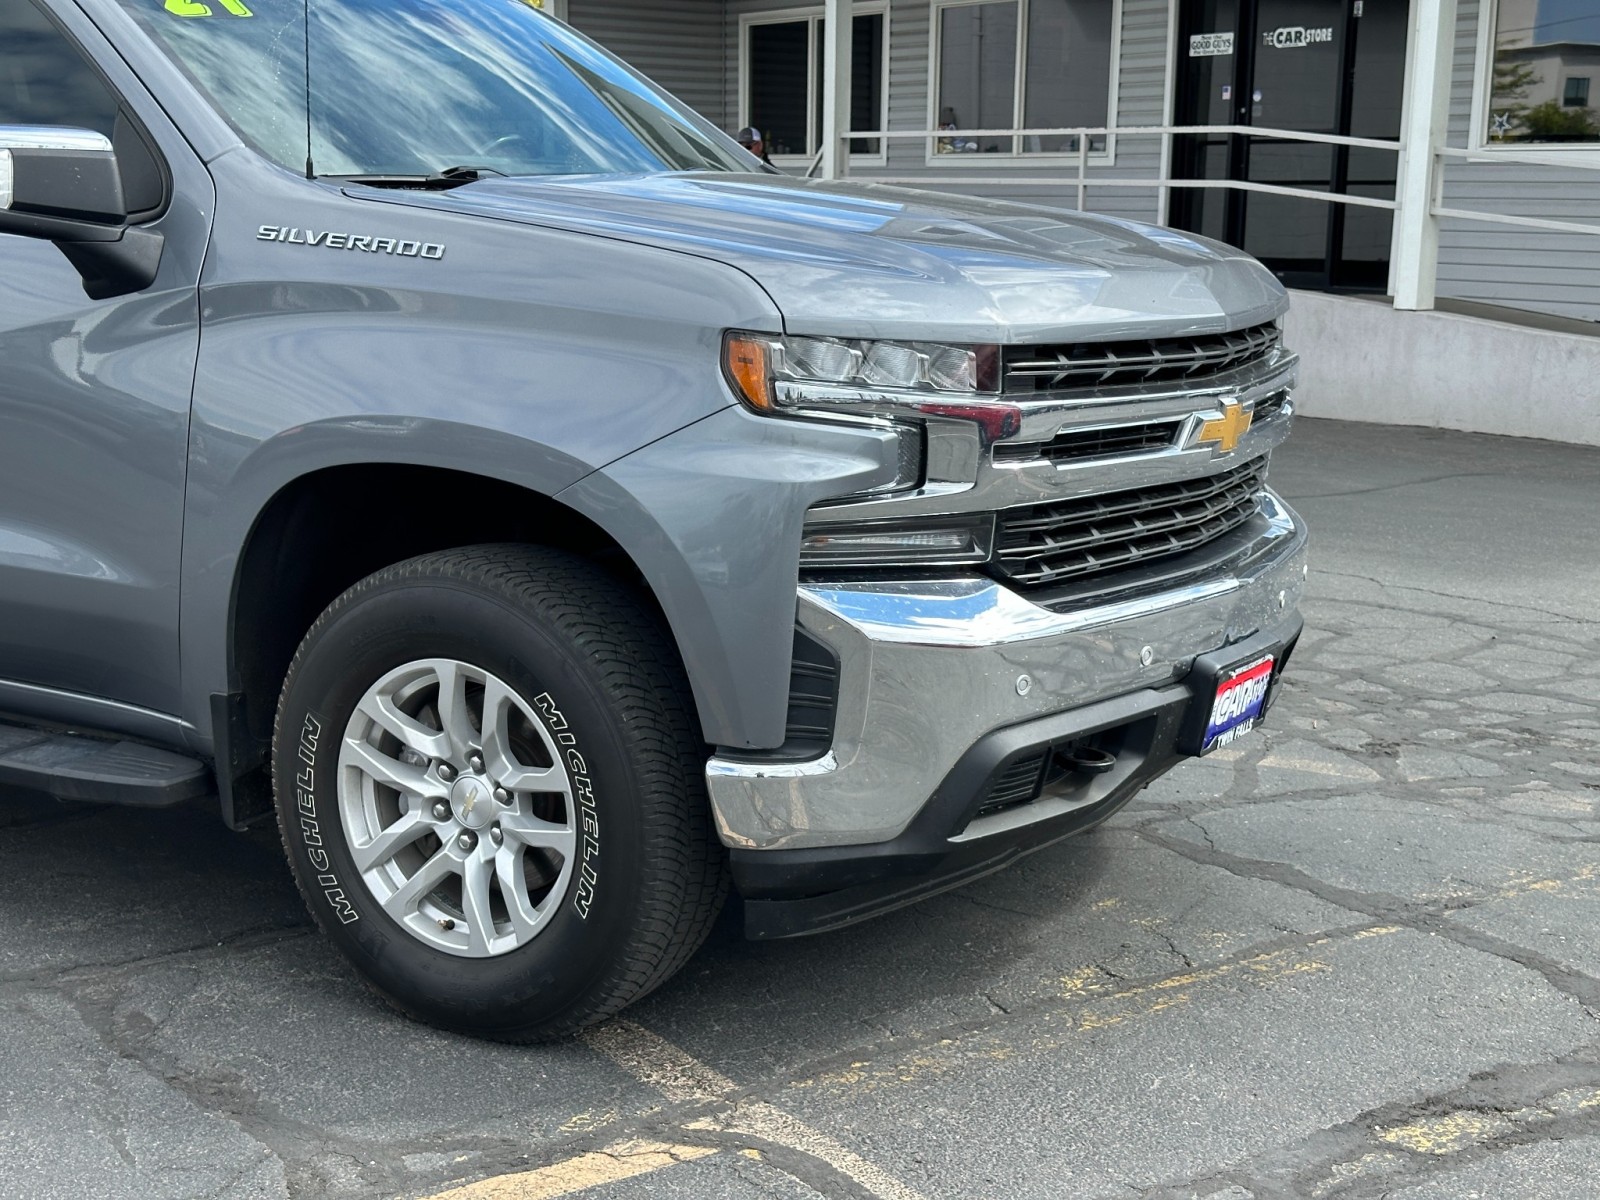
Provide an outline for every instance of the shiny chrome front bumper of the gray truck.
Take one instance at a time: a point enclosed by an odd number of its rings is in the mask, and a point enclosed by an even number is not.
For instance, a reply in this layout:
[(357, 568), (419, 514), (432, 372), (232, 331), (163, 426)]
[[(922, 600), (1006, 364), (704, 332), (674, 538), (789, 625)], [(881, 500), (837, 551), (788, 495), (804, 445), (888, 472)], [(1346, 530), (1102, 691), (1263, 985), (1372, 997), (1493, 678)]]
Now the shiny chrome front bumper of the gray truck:
[(1234, 566), (1131, 600), (1053, 611), (989, 578), (800, 587), (840, 661), (834, 747), (810, 762), (714, 757), (717, 827), (739, 850), (888, 842), (994, 730), (1160, 688), (1195, 658), (1294, 619), (1306, 530), (1267, 493)]

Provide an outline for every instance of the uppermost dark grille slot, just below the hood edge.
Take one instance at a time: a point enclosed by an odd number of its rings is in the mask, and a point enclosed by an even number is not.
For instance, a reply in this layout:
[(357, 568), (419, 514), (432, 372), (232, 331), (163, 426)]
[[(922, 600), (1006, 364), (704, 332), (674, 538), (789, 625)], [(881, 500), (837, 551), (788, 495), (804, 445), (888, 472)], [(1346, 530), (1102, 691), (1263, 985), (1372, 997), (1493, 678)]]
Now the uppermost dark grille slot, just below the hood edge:
[(1006, 392), (1192, 381), (1266, 358), (1282, 341), (1274, 323), (1195, 338), (1003, 347)]

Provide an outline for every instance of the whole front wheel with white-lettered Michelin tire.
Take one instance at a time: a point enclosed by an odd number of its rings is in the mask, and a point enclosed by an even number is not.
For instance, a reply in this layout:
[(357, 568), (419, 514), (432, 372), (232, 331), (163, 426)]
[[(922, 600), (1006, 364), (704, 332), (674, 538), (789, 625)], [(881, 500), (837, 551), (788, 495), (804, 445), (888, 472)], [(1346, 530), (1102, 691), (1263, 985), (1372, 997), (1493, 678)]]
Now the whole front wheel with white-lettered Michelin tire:
[(278, 706), (283, 845), (395, 1006), (570, 1034), (694, 952), (726, 894), (686, 680), (659, 618), (582, 560), (413, 558), (312, 626)]

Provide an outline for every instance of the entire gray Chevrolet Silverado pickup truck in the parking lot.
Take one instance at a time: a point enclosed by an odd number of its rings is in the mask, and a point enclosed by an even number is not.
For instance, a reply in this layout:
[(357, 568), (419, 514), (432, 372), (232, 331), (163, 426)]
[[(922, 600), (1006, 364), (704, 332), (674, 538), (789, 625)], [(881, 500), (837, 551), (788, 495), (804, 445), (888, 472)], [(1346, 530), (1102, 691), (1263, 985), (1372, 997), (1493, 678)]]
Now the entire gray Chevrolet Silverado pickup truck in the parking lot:
[(1285, 306), (520, 0), (0, 0), (0, 786), (275, 813), (392, 1003), (568, 1034), (1261, 718)]

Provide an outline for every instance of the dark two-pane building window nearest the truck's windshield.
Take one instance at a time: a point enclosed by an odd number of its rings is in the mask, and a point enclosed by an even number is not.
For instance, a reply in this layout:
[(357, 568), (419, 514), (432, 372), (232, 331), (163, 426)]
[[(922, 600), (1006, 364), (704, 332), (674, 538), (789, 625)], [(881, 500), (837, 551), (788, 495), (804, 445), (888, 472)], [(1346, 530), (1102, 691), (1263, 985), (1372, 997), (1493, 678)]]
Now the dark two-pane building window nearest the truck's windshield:
[[(877, 130), (886, 120), (883, 37), (886, 10), (856, 5), (850, 35), (850, 128)], [(789, 11), (776, 19), (746, 18), (739, 125), (766, 139), (766, 152), (811, 157), (822, 146), (822, 10)], [(853, 138), (851, 154), (882, 154), (877, 138)]]

